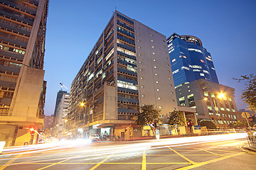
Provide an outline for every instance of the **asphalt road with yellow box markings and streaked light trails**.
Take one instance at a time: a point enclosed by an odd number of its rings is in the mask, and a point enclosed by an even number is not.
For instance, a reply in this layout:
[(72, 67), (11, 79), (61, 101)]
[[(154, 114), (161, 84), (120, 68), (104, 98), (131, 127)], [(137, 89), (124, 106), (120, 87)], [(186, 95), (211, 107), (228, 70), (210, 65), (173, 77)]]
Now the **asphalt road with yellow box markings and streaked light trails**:
[[(4, 149), (9, 169), (256, 169), (245, 139), (182, 137), (137, 142), (63, 142)], [(199, 141), (199, 142), (198, 142)]]

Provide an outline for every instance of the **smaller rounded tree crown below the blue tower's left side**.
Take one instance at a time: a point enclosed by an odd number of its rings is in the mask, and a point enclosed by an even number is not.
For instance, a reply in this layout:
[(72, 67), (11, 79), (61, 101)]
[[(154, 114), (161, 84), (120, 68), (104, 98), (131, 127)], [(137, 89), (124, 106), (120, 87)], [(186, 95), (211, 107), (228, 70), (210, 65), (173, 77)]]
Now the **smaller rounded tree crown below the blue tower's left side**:
[(181, 111), (172, 111), (168, 116), (169, 125), (185, 125), (185, 118)]

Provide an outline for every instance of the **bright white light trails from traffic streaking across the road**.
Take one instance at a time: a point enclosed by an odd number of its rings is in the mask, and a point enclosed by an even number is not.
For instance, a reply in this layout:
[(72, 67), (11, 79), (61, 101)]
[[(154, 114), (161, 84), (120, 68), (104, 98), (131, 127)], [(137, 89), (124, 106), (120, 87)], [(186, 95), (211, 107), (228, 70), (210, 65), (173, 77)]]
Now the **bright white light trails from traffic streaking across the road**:
[[(103, 142), (107, 145), (100, 145), (100, 143), (90, 142), (90, 140), (65, 140), (60, 142), (52, 142), (40, 145), (27, 145), (22, 147), (9, 147), (4, 149), (4, 155), (16, 155), (25, 152), (25, 154), (34, 154), (36, 152), (49, 152), (65, 149), (78, 148), (78, 152), (84, 154), (110, 154), (110, 152), (134, 152), (142, 149), (155, 148), (157, 146), (170, 147), (171, 145), (191, 145), (191, 143), (201, 142), (218, 142), (223, 140), (234, 140), (245, 138), (247, 133), (233, 133), (228, 135), (208, 135), (195, 137), (176, 137), (160, 140), (141, 140), (129, 142)], [(79, 147), (85, 147), (79, 150)]]

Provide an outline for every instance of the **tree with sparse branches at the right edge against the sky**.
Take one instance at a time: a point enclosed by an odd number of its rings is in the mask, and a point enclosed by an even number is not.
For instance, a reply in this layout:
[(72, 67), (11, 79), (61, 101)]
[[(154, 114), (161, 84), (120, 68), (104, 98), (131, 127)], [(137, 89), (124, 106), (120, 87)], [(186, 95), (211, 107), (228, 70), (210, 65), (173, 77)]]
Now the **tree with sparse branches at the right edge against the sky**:
[(245, 90), (242, 91), (242, 101), (248, 104), (250, 110), (256, 111), (256, 75), (241, 76), (240, 79), (235, 79), (238, 82), (245, 82)]

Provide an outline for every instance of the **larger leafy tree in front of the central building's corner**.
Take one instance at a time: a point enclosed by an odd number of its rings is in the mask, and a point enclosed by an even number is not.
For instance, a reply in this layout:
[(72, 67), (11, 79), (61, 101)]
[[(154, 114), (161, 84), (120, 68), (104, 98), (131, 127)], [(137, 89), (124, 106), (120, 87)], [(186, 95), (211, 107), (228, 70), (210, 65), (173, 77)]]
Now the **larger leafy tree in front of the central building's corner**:
[[(155, 128), (153, 124), (157, 124), (161, 121), (161, 110), (154, 107), (154, 105), (145, 105), (141, 107), (135, 123), (138, 125), (149, 125), (155, 135)], [(153, 123), (153, 124), (152, 124)]]

